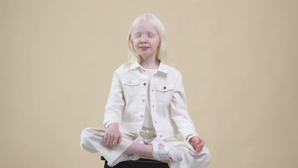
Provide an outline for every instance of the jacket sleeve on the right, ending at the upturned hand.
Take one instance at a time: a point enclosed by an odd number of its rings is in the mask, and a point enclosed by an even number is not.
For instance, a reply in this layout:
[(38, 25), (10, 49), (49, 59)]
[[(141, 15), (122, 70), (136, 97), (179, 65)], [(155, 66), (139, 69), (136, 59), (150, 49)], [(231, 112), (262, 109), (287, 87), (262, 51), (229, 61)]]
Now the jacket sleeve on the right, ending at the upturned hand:
[(181, 73), (174, 87), (173, 97), (171, 99), (171, 117), (177, 125), (178, 131), (181, 133), (185, 141), (189, 140), (189, 136), (197, 136), (195, 126), (191, 120), (188, 110), (185, 91), (182, 83)]

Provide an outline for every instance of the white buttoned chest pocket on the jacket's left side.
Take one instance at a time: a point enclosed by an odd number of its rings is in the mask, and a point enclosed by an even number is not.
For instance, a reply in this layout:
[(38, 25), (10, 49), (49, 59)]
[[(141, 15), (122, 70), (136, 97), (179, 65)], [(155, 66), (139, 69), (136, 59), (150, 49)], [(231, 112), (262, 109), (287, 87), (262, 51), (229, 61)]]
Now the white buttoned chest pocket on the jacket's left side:
[[(122, 78), (122, 84), (128, 97), (135, 96), (139, 91), (140, 79)], [(125, 94), (125, 93), (124, 93)]]

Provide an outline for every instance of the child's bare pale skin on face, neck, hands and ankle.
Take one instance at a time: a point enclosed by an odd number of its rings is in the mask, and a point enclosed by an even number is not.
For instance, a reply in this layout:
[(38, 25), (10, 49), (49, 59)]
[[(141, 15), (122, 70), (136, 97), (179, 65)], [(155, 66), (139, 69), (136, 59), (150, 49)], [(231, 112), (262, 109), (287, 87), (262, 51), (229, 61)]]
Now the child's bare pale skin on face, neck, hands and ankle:
[[(157, 29), (148, 21), (140, 21), (136, 30), (129, 36), (130, 43), (133, 45), (136, 53), (140, 56), (140, 65), (146, 69), (157, 69), (160, 61), (156, 59), (157, 48), (161, 45)], [(111, 123), (105, 133), (107, 146), (112, 148), (121, 143), (121, 133), (118, 123)], [(188, 143), (196, 152), (201, 152), (205, 141), (194, 136), (189, 139)], [(124, 153), (139, 154), (140, 158), (154, 159), (152, 145), (139, 144), (132, 142)], [(168, 160), (162, 160), (168, 162)]]

